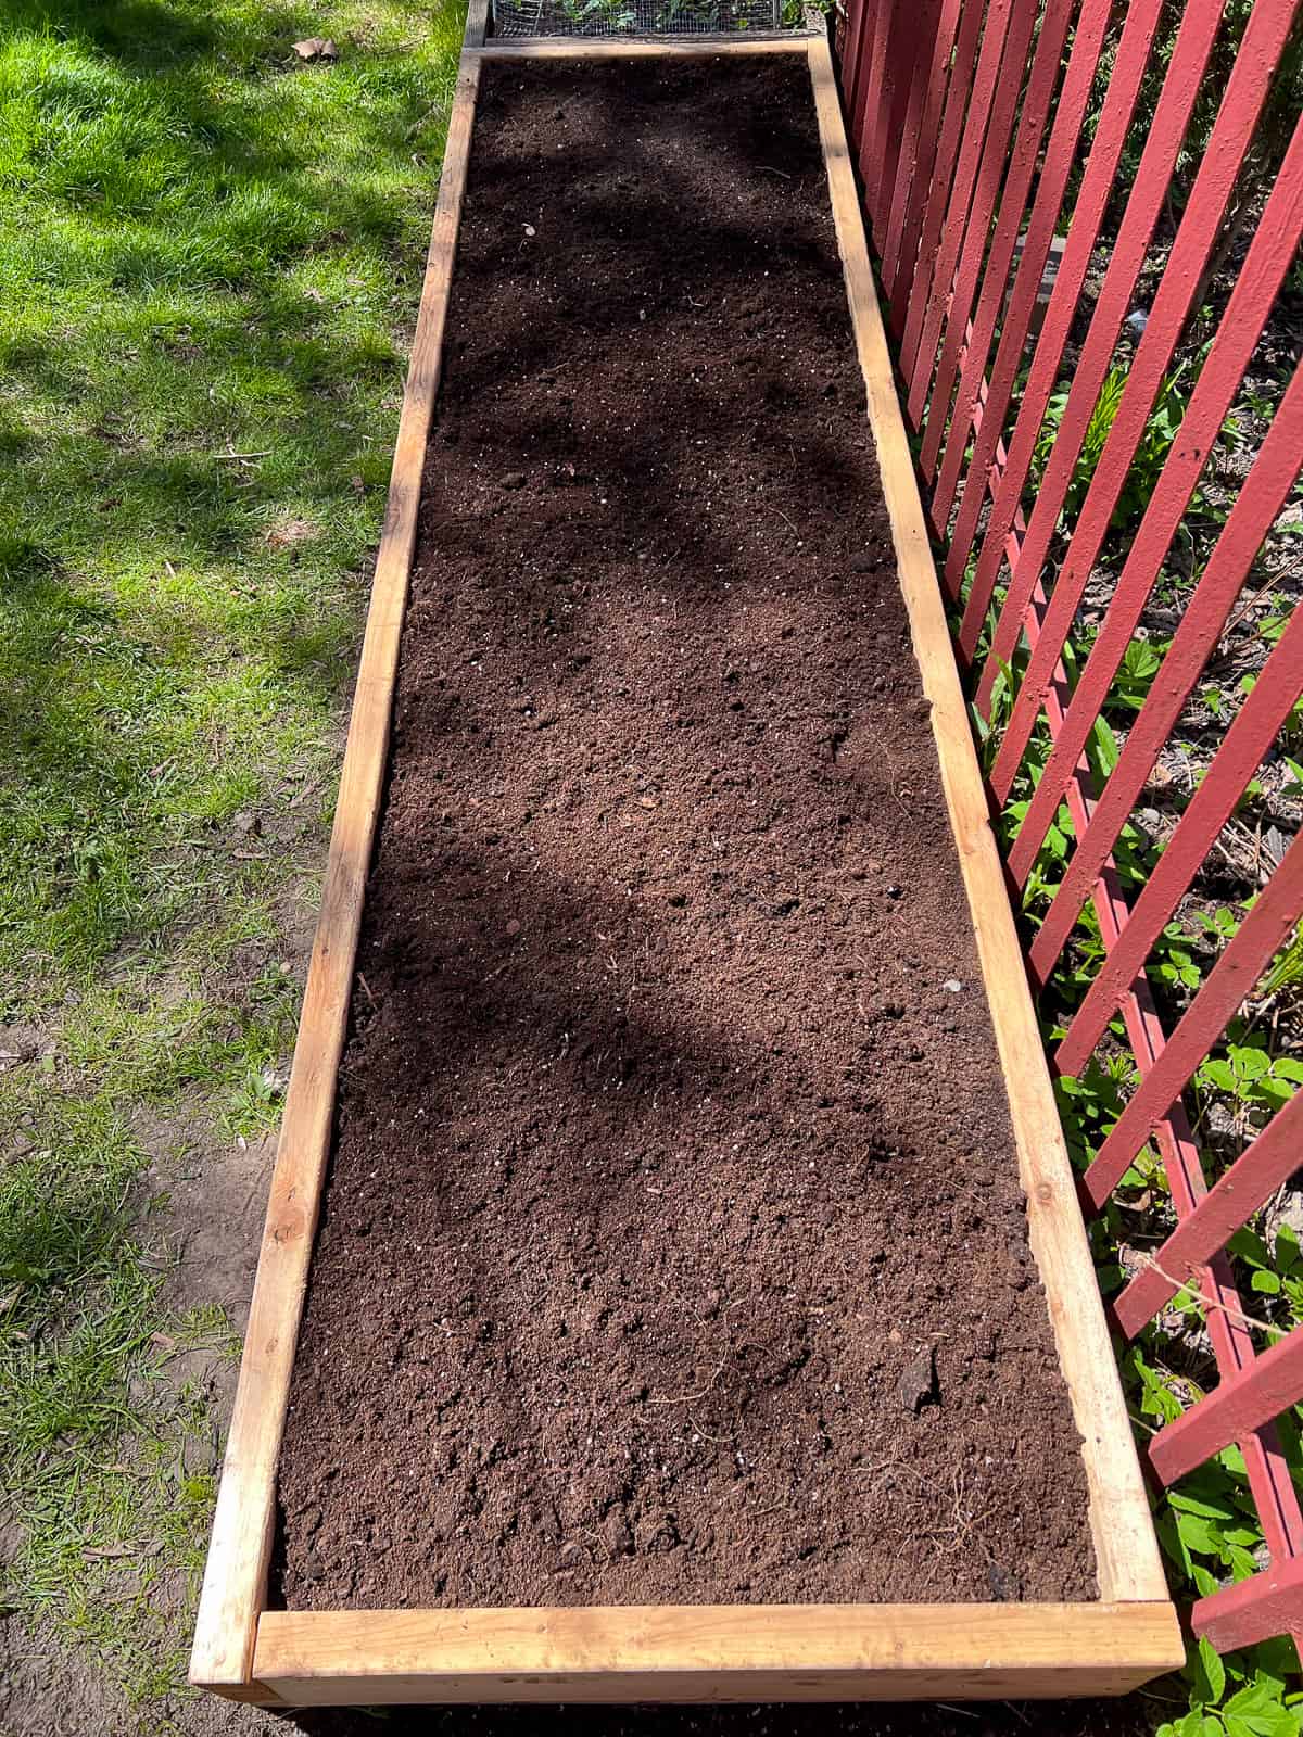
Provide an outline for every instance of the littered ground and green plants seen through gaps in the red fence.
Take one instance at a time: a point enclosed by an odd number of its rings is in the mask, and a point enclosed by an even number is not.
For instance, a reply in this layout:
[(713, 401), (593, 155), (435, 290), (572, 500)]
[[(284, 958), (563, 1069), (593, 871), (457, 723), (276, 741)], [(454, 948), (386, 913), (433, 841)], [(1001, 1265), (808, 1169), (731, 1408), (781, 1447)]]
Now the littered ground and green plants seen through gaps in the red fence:
[[(1178, 224), (1207, 153), (1253, 12), (1253, 0), (1228, 0), (1220, 10), (1220, 30), (1206, 75), (1194, 92), (1190, 123), (1178, 153), (1164, 208), (1131, 292), (1131, 313), (1122, 323), (1110, 368), (1091, 406), (1065, 492), (1044, 563), (1042, 577), (1048, 591), (1053, 589), (1055, 573), (1067, 554), (1072, 530), (1122, 405), (1145, 330), (1145, 314), (1154, 306)], [(1095, 299), (1107, 281), (1114, 240), (1128, 208), (1141, 155), (1150, 141), (1152, 118), (1173, 59), (1178, 31), (1190, 16), (1192, 10), (1185, 0), (1164, 0), (1154, 50), (1143, 73), (1117, 174), (1112, 177), (1110, 200), (1095, 243), (1091, 271), (1075, 309), (1060, 377), (1049, 394), (1032, 452), (1022, 500), (1029, 516), (1035, 507), (1037, 488), (1060, 438), (1074, 367), (1081, 354), (1077, 346), (1086, 337)], [(1117, 68), (1126, 17), (1126, 9), (1115, 9), (1105, 35), (1103, 54), (1088, 101), (1081, 148), (1058, 212), (1056, 229), (1060, 234), (1070, 231), (1089, 148)], [(1154, 398), (1124, 486), (1110, 514), (1108, 533), (1086, 584), (1063, 653), (1070, 684), (1075, 683), (1091, 651), (1131, 542), (1145, 519), (1167, 457), (1180, 441), (1181, 424), (1200, 368), (1223, 318), (1239, 262), (1282, 163), (1301, 102), (1303, 26), (1296, 19), (1267, 90), (1251, 148), (1221, 214), (1207, 266), (1199, 281), (1190, 285), (1190, 318)], [(1126, 648), (1103, 716), (1095, 726), (1088, 756), (1096, 792), (1117, 764), (1119, 743), (1126, 740), (1128, 730), (1134, 724), (1134, 717), (1162, 669), (1181, 615), (1207, 568), (1239, 486), (1261, 448), (1294, 373), (1298, 363), (1298, 295), (1301, 290), (1303, 255), (1296, 255), (1286, 276), (1286, 287), (1254, 349), (1237, 401), (1221, 427), (1214, 450), (1207, 455), (1199, 485), (1176, 528), (1141, 625)], [(1032, 347), (1029, 346), (1023, 351), (1020, 377), (1006, 417), (1006, 434), (1013, 427), (1020, 394), (1030, 375), (1030, 363)], [(1258, 551), (1246, 596), (1237, 603), (1207, 664), (1204, 679), (1169, 743), (1171, 761), (1178, 771), (1173, 773), (1173, 764), (1162, 768), (1162, 787), (1159, 787), (1155, 771), (1155, 778), (1140, 799), (1138, 813), (1131, 816), (1119, 835), (1114, 863), (1122, 889), (1133, 903), (1166, 848), (1180, 813), (1206, 776), (1244, 695), (1253, 690), (1267, 650), (1280, 637), (1293, 608), (1298, 606), (1300, 563), (1293, 554), (1293, 544), (1300, 533), (1303, 533), (1303, 488), (1296, 485), (1286, 512), (1273, 526), (1265, 547)], [(973, 558), (969, 559), (964, 594), (975, 566), (976, 559)], [(987, 657), (1002, 596), (1004, 592), (997, 591), (994, 608), (989, 613), (987, 632), (976, 653), (978, 667)], [(1013, 665), (1002, 669), (995, 679), (990, 717), (982, 717), (973, 709), (975, 735), (987, 768), (994, 764), (1023, 667), (1025, 651), (1020, 648), (1013, 657)], [(1303, 776), (1300, 776), (1303, 768), (1296, 769), (1296, 766), (1301, 742), (1303, 705), (1294, 709), (1268, 763), (1260, 768), (1258, 776), (1249, 780), (1232, 827), (1223, 832), (1204, 874), (1195, 881), (1192, 893), (1181, 900), (1147, 961), (1147, 976), (1167, 1030), (1188, 1006), (1216, 964), (1220, 952), (1237, 933), (1270, 872), (1272, 862), (1279, 860), (1289, 835), (1298, 830), (1300, 811), (1296, 804), (1298, 797), (1303, 796)], [(1001, 839), (1006, 848), (1016, 837), (1027, 815), (1048, 756), (1049, 736), (1041, 724), (1001, 816)], [(1023, 888), (1022, 919), (1029, 941), (1063, 879), (1074, 848), (1072, 816), (1067, 804), (1060, 804)], [(1048, 1046), (1062, 1037), (1072, 1013), (1095, 981), (1101, 961), (1100, 928), (1088, 903), (1041, 1001)], [(1223, 1040), (1195, 1073), (1185, 1101), (1194, 1138), (1207, 1160), (1209, 1183), (1267, 1124), (1270, 1113), (1303, 1087), (1301, 987), (1303, 929), (1272, 962), (1240, 1009), (1240, 1016), (1232, 1021)], [(1081, 1079), (1056, 1082), (1068, 1143), (1074, 1160), (1082, 1169), (1115, 1126), (1138, 1077), (1126, 1028), (1121, 1020), (1114, 1020)], [(1296, 1207), (1296, 1197), (1293, 1205)], [(1155, 1251), (1174, 1221), (1162, 1164), (1157, 1152), (1148, 1146), (1136, 1159), (1107, 1211), (1091, 1225), (1105, 1294), (1114, 1294), (1122, 1287), (1128, 1263), (1134, 1268), (1136, 1259)], [(1300, 1282), (1303, 1273), (1300, 1273), (1296, 1228), (1286, 1218), (1258, 1214), (1254, 1223), (1234, 1238), (1228, 1252), (1240, 1294), (1247, 1298), (1246, 1308), (1254, 1311), (1256, 1344), (1265, 1350), (1282, 1332), (1303, 1322), (1303, 1282)], [(1213, 1384), (1216, 1381), (1204, 1308), (1190, 1292), (1180, 1292), (1134, 1344), (1124, 1348), (1119, 1341), (1117, 1348), (1122, 1355), (1133, 1423), (1141, 1440), (1199, 1398), (1202, 1383)], [(1296, 1480), (1303, 1470), (1298, 1442), (1300, 1417), (1303, 1417), (1303, 1410), (1296, 1410), (1280, 1424), (1284, 1449)], [(1155, 1516), (1174, 1595), (1185, 1603), (1214, 1591), (1220, 1584), (1242, 1579), (1265, 1563), (1265, 1542), (1247, 1494), (1244, 1463), (1234, 1449), (1221, 1454), (1211, 1466), (1202, 1468), (1194, 1478), (1164, 1492), (1157, 1501)], [(1159, 1687), (1174, 1714), (1161, 1727), (1162, 1737), (1246, 1737), (1246, 1734), (1287, 1737), (1287, 1734), (1303, 1730), (1298, 1659), (1287, 1641), (1273, 1641), (1228, 1659), (1218, 1659), (1204, 1643), (1192, 1648), (1183, 1683)]]

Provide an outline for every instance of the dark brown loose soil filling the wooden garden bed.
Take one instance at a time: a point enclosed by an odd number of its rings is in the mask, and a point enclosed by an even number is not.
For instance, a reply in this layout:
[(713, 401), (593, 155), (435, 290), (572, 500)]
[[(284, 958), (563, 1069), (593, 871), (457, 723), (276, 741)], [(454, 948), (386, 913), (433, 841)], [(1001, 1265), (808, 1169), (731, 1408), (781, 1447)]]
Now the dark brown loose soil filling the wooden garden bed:
[(804, 61), (486, 64), (292, 1608), (1088, 1598)]

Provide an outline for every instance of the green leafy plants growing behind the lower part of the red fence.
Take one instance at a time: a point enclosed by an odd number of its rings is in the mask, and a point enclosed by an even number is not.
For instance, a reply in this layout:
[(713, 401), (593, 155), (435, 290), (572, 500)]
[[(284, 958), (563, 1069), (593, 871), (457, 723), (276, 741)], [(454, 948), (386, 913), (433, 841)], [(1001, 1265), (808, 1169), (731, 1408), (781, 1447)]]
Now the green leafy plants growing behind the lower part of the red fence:
[[(1086, 460), (1088, 462), (1088, 460)], [(999, 604), (999, 598), (997, 598)], [(989, 620), (994, 627), (995, 610)], [(1089, 650), (1089, 631), (1077, 629), (1065, 651), (1070, 679)], [(985, 651), (985, 646), (982, 648)], [(1103, 785), (1117, 764), (1117, 728), (1126, 728), (1140, 709), (1162, 665), (1166, 643), (1134, 641), (1100, 717), (1088, 754)], [(1009, 716), (1011, 695), (1023, 662), (1004, 669), (992, 693), (990, 719), (973, 712), (975, 728), (987, 766), (994, 761), (999, 733)], [(1221, 714), (1213, 710), (1214, 721)], [(1112, 719), (1112, 723), (1110, 723)], [(1027, 813), (1030, 794), (1049, 756), (1051, 742), (1044, 723), (1035, 731), (1013, 799), (1002, 815), (1002, 841), (1011, 844)], [(1197, 787), (1192, 785), (1192, 789)], [(1067, 802), (1023, 888), (1023, 922), (1034, 933), (1053, 898), (1072, 855), (1074, 823)], [(1134, 898), (1159, 856), (1159, 846), (1134, 823), (1128, 823), (1117, 841), (1114, 862), (1119, 879)], [(1187, 1006), (1216, 964), (1220, 952), (1237, 933), (1251, 908), (1256, 889), (1244, 888), (1234, 903), (1206, 900), (1181, 910), (1169, 922), (1150, 954), (1147, 973), (1169, 1011)], [(1298, 1046), (1300, 995), (1303, 985), (1303, 929), (1282, 948), (1221, 1042), (1199, 1067), (1194, 1089), (1187, 1094), (1192, 1129), (1197, 1139), (1221, 1159), (1234, 1157), (1270, 1115), (1303, 1087), (1303, 1056)], [(1098, 922), (1089, 905), (1082, 910), (1070, 945), (1065, 948), (1046, 992), (1041, 1011), (1048, 1044), (1067, 1030), (1072, 1011), (1081, 1004), (1103, 961)], [(1171, 1018), (1169, 1018), (1171, 1027)], [(1056, 1080), (1056, 1096), (1068, 1136), (1074, 1164), (1086, 1169), (1122, 1113), (1140, 1082), (1121, 1018), (1110, 1021), (1100, 1049), (1081, 1077)], [(1213, 1136), (1218, 1119), (1221, 1141)], [(1213, 1179), (1214, 1171), (1209, 1171)], [(1174, 1226), (1171, 1192), (1154, 1145), (1148, 1145), (1122, 1178), (1105, 1211), (1089, 1223), (1103, 1294), (1122, 1289), (1136, 1254), (1157, 1247)], [(1303, 1256), (1296, 1232), (1287, 1225), (1270, 1228), (1263, 1214), (1239, 1232), (1228, 1252), (1237, 1280), (1254, 1310), (1260, 1348), (1303, 1322)], [(1133, 1424), (1143, 1440), (1164, 1423), (1178, 1417), (1207, 1386), (1216, 1384), (1206, 1332), (1206, 1310), (1190, 1289), (1173, 1303), (1131, 1344), (1117, 1343)], [(1282, 1447), (1296, 1480), (1303, 1478), (1300, 1421), (1303, 1414), (1280, 1419)], [(1244, 1457), (1230, 1447), (1190, 1476), (1155, 1499), (1155, 1523), (1173, 1589), (1178, 1600), (1192, 1603), (1218, 1586), (1246, 1579), (1263, 1565), (1263, 1534), (1249, 1494)], [(1298, 1690), (1298, 1661), (1287, 1640), (1268, 1641), (1242, 1654), (1218, 1657), (1199, 1641), (1190, 1647), (1183, 1681), (1174, 1692), (1178, 1716), (1159, 1727), (1159, 1737), (1298, 1737), (1303, 1732), (1303, 1694)], [(1185, 1711), (1180, 1711), (1180, 1702)]]

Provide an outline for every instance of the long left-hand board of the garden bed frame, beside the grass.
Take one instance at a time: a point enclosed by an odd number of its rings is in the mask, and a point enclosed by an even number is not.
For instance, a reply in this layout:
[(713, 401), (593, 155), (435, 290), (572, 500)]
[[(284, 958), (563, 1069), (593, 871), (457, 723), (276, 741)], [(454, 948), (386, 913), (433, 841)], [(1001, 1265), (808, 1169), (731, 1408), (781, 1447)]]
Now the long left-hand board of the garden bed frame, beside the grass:
[[(486, 0), (474, 0), (466, 26), (467, 42), (483, 40), (485, 16)], [(448, 123), (321, 910), (308, 966), (299, 1040), (285, 1096), (280, 1150), (191, 1650), (191, 1681), (212, 1688), (248, 1681), (257, 1617), (266, 1598), (276, 1461), (330, 1152), (335, 1073), (347, 1027), (361, 902), (389, 749), (389, 712), (417, 533), (420, 471), (440, 379), (478, 82), (478, 59), (464, 56)]]

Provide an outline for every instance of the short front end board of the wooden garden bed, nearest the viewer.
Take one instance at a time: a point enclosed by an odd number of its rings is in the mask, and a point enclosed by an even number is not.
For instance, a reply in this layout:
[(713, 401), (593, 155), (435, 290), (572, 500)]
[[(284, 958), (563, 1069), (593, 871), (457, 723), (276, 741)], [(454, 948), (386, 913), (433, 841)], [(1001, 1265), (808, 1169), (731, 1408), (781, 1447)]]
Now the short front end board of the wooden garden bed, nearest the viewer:
[(295, 1706), (935, 1701), (1124, 1694), (1180, 1662), (1157, 1605), (269, 1610), (259, 1683)]

